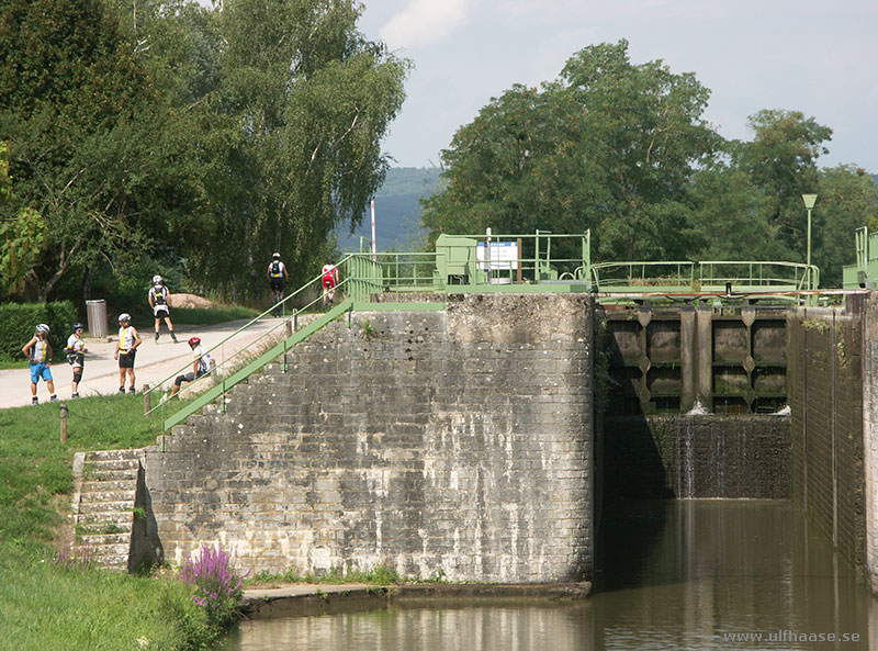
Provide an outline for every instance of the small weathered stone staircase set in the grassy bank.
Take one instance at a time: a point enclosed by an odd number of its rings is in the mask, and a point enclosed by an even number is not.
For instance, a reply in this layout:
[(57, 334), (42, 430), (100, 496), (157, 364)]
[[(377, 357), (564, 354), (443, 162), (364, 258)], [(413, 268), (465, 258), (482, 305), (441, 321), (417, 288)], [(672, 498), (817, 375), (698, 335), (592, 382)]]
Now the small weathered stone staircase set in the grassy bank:
[(98, 564), (132, 570), (139, 450), (80, 452), (74, 460), (77, 545), (94, 549)]

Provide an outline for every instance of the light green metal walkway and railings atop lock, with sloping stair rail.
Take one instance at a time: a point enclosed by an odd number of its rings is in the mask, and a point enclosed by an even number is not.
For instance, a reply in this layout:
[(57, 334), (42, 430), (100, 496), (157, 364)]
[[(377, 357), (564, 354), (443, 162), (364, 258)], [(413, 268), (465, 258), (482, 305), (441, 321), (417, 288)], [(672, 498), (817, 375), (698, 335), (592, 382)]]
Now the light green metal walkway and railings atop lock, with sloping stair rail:
[[(858, 235), (859, 237), (859, 235)], [(859, 239), (858, 239), (859, 242)], [(875, 250), (878, 251), (878, 245)], [(182, 423), (205, 405), (221, 401), (236, 384), (285, 353), (333, 321), (352, 312), (444, 310), (449, 293), (592, 292), (604, 305), (688, 304), (721, 306), (796, 304), (817, 299), (819, 270), (796, 262), (766, 261), (592, 261), (590, 233), (556, 235), (440, 235), (435, 252), (348, 254), (339, 263), (339, 302), (319, 312), (322, 283), (317, 277), (211, 348), (222, 362), (185, 385), (192, 400), (159, 401), (173, 378), (147, 392), (147, 414), (158, 412), (162, 429)], [(845, 278), (847, 278), (847, 272)], [(435, 294), (435, 301), (406, 302), (405, 294)], [(373, 299), (383, 294), (382, 301)], [(398, 302), (392, 296), (398, 295)], [(389, 300), (390, 299), (390, 300)], [(274, 311), (285, 314), (272, 317)], [(255, 324), (270, 324), (247, 349), (228, 358), (223, 348)], [(216, 352), (214, 352), (216, 351)]]

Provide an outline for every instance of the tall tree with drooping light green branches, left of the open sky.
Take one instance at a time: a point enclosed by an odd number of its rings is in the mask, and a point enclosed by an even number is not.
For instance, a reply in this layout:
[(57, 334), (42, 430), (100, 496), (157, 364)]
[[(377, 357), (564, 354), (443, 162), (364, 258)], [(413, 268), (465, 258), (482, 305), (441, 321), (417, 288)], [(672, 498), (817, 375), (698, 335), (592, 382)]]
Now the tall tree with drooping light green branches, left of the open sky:
[(202, 282), (262, 292), (272, 251), (301, 282), (334, 228), (362, 218), (389, 167), (381, 139), (408, 63), (357, 30), (361, 12), (351, 0), (223, 3), (214, 105), (233, 128), (216, 151), (224, 200), (190, 260)]

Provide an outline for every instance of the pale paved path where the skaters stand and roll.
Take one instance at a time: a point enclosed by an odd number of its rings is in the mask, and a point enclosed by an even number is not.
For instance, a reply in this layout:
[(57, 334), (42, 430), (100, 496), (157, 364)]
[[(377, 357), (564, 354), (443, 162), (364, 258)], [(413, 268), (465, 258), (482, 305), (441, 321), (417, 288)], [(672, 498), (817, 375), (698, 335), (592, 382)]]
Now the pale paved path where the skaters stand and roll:
[[(137, 360), (134, 372), (137, 379), (137, 390), (145, 384), (155, 386), (169, 375), (176, 377), (182, 368), (191, 370), (192, 351), (187, 344), (189, 337), (201, 337), (205, 350), (212, 348), (239, 327), (247, 319), (232, 321), (214, 326), (178, 325), (175, 328), (179, 344), (175, 344), (168, 335), (167, 327), (162, 324), (161, 337), (154, 340), (155, 333), (151, 328), (138, 329), (143, 344), (137, 348)], [(267, 318), (254, 324), (245, 333), (224, 344), (221, 349), (211, 352), (211, 357), (218, 364), (241, 348), (252, 344), (260, 336), (272, 328), (278, 333), (283, 330), (280, 318)], [(67, 335), (65, 335), (65, 340)], [(111, 394), (119, 391), (119, 362), (113, 359), (116, 349), (115, 334), (106, 339), (86, 339), (86, 369), (82, 381), (79, 383), (79, 394), (82, 396), (95, 394)], [(69, 400), (74, 373), (66, 362), (56, 361), (52, 364), (52, 375), (55, 380), (55, 392), (60, 400)], [(173, 382), (173, 377), (170, 382)], [(37, 386), (40, 402), (48, 402), (48, 389), (41, 381)], [(31, 375), (26, 368), (0, 371), (0, 408), (18, 407), (31, 404)]]

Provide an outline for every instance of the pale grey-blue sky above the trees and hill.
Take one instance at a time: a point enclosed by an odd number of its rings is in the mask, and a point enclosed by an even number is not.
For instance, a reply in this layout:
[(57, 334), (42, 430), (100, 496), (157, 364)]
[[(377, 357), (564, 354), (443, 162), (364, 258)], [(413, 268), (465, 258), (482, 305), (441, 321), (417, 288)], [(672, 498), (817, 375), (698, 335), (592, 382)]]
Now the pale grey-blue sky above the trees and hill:
[(440, 150), (514, 83), (559, 77), (576, 52), (629, 42), (711, 91), (703, 117), (751, 139), (763, 109), (833, 130), (818, 165), (878, 173), (878, 0), (363, 0), (359, 29), (414, 64), (383, 143), (394, 167), (438, 167)]

